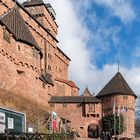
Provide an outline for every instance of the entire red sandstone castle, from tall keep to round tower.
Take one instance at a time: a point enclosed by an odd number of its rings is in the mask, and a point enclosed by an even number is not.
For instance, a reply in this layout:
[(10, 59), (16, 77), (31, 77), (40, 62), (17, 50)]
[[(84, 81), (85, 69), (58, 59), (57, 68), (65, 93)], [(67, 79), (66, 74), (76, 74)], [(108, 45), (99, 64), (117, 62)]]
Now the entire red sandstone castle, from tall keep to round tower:
[[(0, 9), (0, 89), (55, 111), (81, 137), (90, 137), (91, 129), (99, 136), (102, 117), (113, 112), (115, 101), (116, 112), (118, 106), (128, 108), (122, 136), (134, 137), (137, 96), (120, 72), (96, 96), (88, 88), (78, 96), (79, 88), (68, 80), (70, 58), (57, 46), (56, 13), (49, 3), (0, 0)], [(0, 106), (18, 110), (3, 96), (1, 91)]]

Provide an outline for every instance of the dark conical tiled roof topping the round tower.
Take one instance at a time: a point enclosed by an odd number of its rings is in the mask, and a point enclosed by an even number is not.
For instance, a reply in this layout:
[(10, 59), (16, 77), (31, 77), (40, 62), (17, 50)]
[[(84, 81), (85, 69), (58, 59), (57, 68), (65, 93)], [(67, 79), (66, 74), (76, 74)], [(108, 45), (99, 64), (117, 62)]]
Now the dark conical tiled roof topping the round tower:
[(113, 94), (132, 95), (137, 97), (120, 72), (118, 72), (105, 85), (105, 87), (97, 94), (97, 97), (113, 95)]

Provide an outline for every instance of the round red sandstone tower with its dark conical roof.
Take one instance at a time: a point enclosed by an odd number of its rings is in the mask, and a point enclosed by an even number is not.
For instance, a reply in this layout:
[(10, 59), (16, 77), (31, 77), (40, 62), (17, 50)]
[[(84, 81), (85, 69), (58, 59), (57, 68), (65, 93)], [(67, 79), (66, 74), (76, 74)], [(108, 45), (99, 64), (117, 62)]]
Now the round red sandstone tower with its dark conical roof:
[(135, 99), (137, 96), (130, 88), (122, 74), (118, 72), (98, 93), (102, 101), (102, 115), (116, 114), (123, 115), (124, 130), (121, 137), (134, 137), (134, 112)]

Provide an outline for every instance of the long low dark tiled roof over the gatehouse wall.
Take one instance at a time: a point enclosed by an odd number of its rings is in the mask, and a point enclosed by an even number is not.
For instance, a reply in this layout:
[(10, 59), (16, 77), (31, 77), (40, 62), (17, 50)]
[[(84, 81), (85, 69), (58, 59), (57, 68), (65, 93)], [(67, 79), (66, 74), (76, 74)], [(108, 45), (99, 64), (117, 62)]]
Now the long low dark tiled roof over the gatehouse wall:
[(49, 103), (99, 103), (96, 97), (85, 96), (52, 96)]

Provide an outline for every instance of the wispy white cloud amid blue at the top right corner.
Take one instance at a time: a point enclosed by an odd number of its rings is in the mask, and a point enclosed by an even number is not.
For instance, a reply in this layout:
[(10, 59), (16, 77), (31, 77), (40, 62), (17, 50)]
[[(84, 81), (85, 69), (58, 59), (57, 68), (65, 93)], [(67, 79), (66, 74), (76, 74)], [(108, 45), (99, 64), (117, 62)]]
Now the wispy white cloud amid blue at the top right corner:
[(134, 20), (135, 12), (131, 0), (94, 0), (97, 4), (108, 8), (109, 13), (119, 17), (122, 22), (129, 23)]

